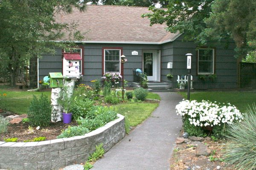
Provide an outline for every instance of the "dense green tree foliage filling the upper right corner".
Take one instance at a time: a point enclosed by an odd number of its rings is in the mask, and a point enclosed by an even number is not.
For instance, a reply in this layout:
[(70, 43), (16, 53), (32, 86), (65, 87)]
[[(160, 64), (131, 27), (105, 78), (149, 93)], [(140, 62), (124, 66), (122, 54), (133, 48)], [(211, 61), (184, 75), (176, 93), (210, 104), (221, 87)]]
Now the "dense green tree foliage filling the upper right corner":
[(236, 42), (239, 61), (250, 51), (256, 50), (255, 0), (215, 0), (212, 13), (205, 19), (205, 23), (205, 34), (212, 37), (212, 40), (231, 37)]

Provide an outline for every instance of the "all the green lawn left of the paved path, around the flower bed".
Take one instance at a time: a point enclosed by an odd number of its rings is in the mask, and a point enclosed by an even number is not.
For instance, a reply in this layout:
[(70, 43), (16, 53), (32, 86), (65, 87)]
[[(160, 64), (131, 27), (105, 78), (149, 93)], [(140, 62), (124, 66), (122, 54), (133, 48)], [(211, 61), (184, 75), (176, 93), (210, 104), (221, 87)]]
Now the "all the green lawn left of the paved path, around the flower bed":
[[(3, 94), (6, 96), (3, 96)], [(13, 91), (6, 86), (0, 86), (0, 108), (12, 111), (17, 114), (27, 113), (33, 95), (40, 96), (41, 94), (51, 95), (50, 91), (47, 92), (28, 92), (28, 91)], [(160, 99), (158, 94), (148, 93), (147, 99)], [(124, 115), (127, 113), (131, 126), (136, 126), (143, 122), (152, 111), (157, 108), (158, 103), (124, 103), (116, 105), (119, 113)]]

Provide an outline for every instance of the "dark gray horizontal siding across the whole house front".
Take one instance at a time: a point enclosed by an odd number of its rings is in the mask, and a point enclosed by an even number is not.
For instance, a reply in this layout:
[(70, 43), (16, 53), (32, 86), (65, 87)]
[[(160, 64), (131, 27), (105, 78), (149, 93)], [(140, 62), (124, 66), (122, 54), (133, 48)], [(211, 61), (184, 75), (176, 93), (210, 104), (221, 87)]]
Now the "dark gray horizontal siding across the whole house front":
[[(173, 42), (162, 45), (142, 45), (142, 44), (95, 44), (87, 43), (84, 47), (84, 76), (82, 82), (91, 85), (91, 80), (101, 79), (102, 77), (102, 48), (122, 48), (123, 54), (128, 59), (124, 64), (124, 78), (128, 82), (133, 81), (133, 69), (142, 69), (143, 50), (160, 50), (161, 71), (160, 79), (163, 82), (169, 82), (172, 88), (177, 86), (177, 76), (186, 75), (186, 56), (192, 53), (192, 76), (193, 87), (195, 89), (205, 88), (236, 88), (237, 87), (237, 64), (234, 57), (234, 43), (229, 47), (215, 47), (215, 74), (216, 82), (203, 83), (198, 80), (197, 75), (197, 45), (194, 42), (182, 41), (182, 36)], [(132, 51), (138, 51), (138, 55), (131, 55)], [(62, 72), (62, 50), (56, 49), (55, 56), (44, 55), (39, 59), (39, 79), (48, 76), (49, 72)], [(173, 62), (173, 68), (167, 68), (167, 63)], [(167, 74), (172, 74), (172, 80), (166, 78)], [(130, 83), (131, 84), (131, 83)]]

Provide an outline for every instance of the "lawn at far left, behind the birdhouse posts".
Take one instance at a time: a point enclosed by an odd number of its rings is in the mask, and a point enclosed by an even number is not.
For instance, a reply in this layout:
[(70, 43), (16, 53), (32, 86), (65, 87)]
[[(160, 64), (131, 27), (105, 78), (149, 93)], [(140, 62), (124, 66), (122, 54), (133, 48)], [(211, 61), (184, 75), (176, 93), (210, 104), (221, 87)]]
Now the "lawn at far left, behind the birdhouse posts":
[[(7, 88), (0, 88), (0, 108), (6, 109), (8, 111), (23, 114), (27, 113), (30, 102), (32, 100), (33, 95), (39, 97), (41, 94), (46, 94), (49, 96), (51, 92), (28, 92), (28, 91), (12, 91)], [(6, 96), (3, 96), (6, 94)]]

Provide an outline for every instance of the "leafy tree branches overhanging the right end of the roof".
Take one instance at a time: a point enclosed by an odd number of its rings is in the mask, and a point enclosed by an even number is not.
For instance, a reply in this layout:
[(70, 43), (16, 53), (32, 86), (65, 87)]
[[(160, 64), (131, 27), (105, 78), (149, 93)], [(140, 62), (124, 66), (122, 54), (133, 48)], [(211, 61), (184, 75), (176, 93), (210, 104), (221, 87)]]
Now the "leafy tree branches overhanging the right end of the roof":
[(151, 6), (153, 13), (143, 14), (143, 17), (148, 17), (151, 25), (166, 23), (168, 31), (183, 33), (184, 40), (204, 44), (204, 19), (209, 18), (212, 3), (213, 0), (169, 0), (167, 10)]

